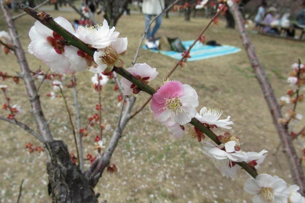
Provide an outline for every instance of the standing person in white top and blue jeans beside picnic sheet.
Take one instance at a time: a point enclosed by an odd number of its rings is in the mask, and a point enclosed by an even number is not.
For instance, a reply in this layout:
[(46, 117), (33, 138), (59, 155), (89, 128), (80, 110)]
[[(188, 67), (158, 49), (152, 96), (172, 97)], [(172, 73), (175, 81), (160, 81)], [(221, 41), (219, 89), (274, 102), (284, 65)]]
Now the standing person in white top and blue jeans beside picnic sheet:
[[(149, 25), (152, 16), (156, 16), (162, 12), (164, 9), (165, 2), (164, 0), (143, 0), (142, 4), (142, 12), (145, 14), (145, 30)], [(160, 28), (162, 23), (162, 15), (160, 15), (156, 19), (155, 27), (153, 27), (152, 32), (150, 28), (147, 31), (146, 39), (147, 41), (153, 40), (155, 38), (155, 34)]]

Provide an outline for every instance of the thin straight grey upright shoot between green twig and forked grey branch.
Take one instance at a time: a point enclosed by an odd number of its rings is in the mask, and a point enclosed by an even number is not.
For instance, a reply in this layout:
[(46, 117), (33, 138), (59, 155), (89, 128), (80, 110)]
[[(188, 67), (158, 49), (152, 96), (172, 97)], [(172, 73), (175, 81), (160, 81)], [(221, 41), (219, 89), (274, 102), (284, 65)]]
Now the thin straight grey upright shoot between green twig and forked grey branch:
[(84, 157), (83, 157), (83, 142), (82, 142), (82, 137), (83, 134), (79, 131), (79, 129), (81, 129), (81, 114), (78, 108), (78, 93), (76, 91), (76, 77), (75, 75), (72, 76), (72, 82), (73, 82), (73, 92), (74, 92), (74, 105), (75, 105), (75, 111), (76, 111), (76, 115), (77, 115), (77, 131), (78, 131), (78, 140), (77, 140), (77, 144), (78, 144), (78, 154), (79, 154), (79, 168), (81, 169), (81, 172), (84, 172)]

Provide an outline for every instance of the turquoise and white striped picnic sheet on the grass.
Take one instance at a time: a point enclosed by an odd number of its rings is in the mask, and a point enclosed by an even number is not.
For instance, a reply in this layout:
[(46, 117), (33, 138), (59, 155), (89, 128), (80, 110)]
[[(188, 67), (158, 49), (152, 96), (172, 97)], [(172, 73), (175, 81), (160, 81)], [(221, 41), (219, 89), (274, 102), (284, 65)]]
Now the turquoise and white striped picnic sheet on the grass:
[[(188, 49), (194, 40), (188, 40), (188, 41), (182, 41), (182, 45)], [(146, 46), (142, 47), (143, 49), (149, 50), (151, 52), (155, 53), (161, 53), (163, 55), (170, 56), (174, 59), (181, 59), (181, 52), (174, 52), (174, 51), (158, 51), (153, 49), (147, 49)], [(203, 45), (199, 41), (196, 42), (196, 44), (191, 49), (190, 55), (191, 58), (188, 58), (188, 61), (198, 61), (203, 59), (210, 59), (213, 57), (228, 55), (228, 54), (235, 54), (237, 52), (240, 52), (241, 49), (230, 46), (230, 45), (222, 45), (222, 46), (210, 46), (210, 45)]]

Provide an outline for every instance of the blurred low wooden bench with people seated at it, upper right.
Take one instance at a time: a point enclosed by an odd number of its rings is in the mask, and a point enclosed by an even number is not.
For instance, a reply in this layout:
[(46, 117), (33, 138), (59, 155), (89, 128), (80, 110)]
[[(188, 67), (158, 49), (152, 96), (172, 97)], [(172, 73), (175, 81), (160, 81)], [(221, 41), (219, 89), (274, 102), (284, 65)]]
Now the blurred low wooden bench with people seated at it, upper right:
[[(303, 40), (303, 36), (305, 34), (305, 28), (300, 28), (300, 27), (294, 27), (293, 25), (291, 25), (289, 28), (287, 27), (281, 27), (281, 26), (271, 26), (272, 28), (278, 28), (279, 33), (278, 34), (270, 34), (270, 33), (264, 33), (263, 29), (265, 26), (270, 26), (264, 23), (258, 23), (258, 32), (260, 34), (264, 34), (264, 35), (268, 35), (268, 36), (272, 36), (272, 37), (285, 37), (287, 39), (292, 39), (292, 40), (297, 40), (297, 41), (302, 41)], [(287, 36), (287, 29), (294, 31), (296, 33), (297, 30), (299, 30), (301, 32), (299, 39), (296, 39), (294, 37), (289, 37)]]

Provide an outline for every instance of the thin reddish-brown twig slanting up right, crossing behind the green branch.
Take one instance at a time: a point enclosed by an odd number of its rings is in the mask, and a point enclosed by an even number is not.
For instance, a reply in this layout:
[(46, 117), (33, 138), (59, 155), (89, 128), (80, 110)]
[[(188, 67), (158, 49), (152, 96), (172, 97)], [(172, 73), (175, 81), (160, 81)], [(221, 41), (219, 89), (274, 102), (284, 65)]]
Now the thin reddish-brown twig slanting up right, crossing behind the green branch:
[[(167, 74), (167, 76), (165, 78), (168, 78), (170, 77), (170, 75), (175, 71), (175, 69), (179, 66), (179, 64), (187, 57), (187, 55), (189, 54), (189, 52), (191, 51), (191, 49), (193, 48), (193, 46), (196, 44), (196, 42), (198, 40), (201, 39), (201, 36), (203, 35), (203, 33), (206, 31), (206, 29), (208, 29), (208, 27), (213, 23), (213, 20), (223, 11), (224, 7), (218, 11), (215, 16), (213, 16), (213, 18), (210, 20), (210, 22), (201, 30), (200, 34), (198, 35), (198, 37), (196, 38), (196, 40), (193, 42), (193, 44), (188, 48), (188, 50), (186, 51), (185, 55), (183, 55), (181, 57), (181, 59), (176, 63), (176, 65), (170, 70), (170, 72)], [(142, 43), (142, 42), (141, 42)], [(135, 57), (135, 60), (137, 58)], [(134, 60), (134, 63), (135, 63), (135, 60)], [(133, 63), (133, 64), (134, 64)], [(156, 89), (159, 89), (156, 88)], [(134, 117), (135, 115), (137, 115), (140, 111), (142, 111), (144, 109), (144, 107), (149, 103), (149, 101), (152, 99), (152, 96), (150, 96), (146, 102), (144, 102), (144, 104), (138, 109), (136, 110), (132, 115), (131, 115), (131, 118)]]

